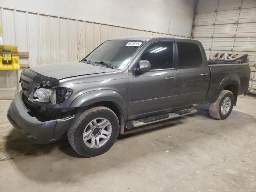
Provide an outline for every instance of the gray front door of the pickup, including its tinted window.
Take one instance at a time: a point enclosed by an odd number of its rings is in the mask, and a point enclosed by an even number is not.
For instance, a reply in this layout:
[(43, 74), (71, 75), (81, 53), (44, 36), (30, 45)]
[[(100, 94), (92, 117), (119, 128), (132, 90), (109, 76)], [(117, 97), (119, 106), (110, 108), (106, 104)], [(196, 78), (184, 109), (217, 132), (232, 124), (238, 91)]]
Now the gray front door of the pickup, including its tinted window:
[(150, 44), (138, 63), (148, 60), (151, 70), (138, 75), (129, 72), (128, 119), (160, 114), (173, 108), (177, 83), (174, 50), (172, 41)]

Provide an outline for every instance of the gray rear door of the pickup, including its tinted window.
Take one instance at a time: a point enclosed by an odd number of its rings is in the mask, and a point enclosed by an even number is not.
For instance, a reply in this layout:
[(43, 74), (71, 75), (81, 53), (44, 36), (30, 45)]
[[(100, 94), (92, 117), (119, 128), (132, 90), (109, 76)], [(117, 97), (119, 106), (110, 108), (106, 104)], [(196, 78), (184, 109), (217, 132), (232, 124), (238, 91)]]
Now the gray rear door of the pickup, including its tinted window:
[(210, 71), (204, 50), (196, 41), (176, 39), (177, 54), (177, 106), (201, 103), (208, 91)]

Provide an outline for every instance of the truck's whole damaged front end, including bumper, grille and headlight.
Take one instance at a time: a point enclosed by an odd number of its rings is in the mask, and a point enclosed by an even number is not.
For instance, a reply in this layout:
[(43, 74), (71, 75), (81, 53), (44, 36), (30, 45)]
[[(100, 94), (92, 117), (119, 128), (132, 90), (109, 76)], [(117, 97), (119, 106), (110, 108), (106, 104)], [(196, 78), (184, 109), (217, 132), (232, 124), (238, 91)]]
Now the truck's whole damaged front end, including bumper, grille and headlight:
[(22, 91), (14, 98), (7, 117), (11, 124), (35, 143), (60, 139), (70, 128), (76, 114), (66, 100), (72, 94), (69, 88), (58, 87), (59, 81), (30, 69), (20, 75)]

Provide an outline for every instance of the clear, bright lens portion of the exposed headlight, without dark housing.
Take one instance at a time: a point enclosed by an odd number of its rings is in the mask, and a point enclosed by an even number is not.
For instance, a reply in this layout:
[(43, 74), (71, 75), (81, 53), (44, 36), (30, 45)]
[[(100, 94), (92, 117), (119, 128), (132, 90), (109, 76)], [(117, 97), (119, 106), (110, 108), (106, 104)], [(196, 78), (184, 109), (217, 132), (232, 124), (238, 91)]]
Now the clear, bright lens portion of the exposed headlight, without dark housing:
[(28, 97), (31, 102), (43, 102), (56, 104), (56, 90), (48, 88), (39, 88), (34, 90)]

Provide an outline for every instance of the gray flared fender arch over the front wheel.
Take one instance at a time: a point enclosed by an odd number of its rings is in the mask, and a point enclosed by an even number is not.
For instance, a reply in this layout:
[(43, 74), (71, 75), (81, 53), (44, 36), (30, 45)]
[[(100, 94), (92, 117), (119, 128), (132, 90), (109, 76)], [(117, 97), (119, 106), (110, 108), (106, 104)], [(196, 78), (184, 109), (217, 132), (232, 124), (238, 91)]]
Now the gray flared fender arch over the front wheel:
[(124, 117), (127, 116), (127, 104), (120, 93), (116, 92), (115, 90), (103, 89), (86, 92), (78, 96), (70, 104), (70, 107), (84, 107), (104, 101), (114, 102), (121, 108), (122, 112), (124, 113)]

